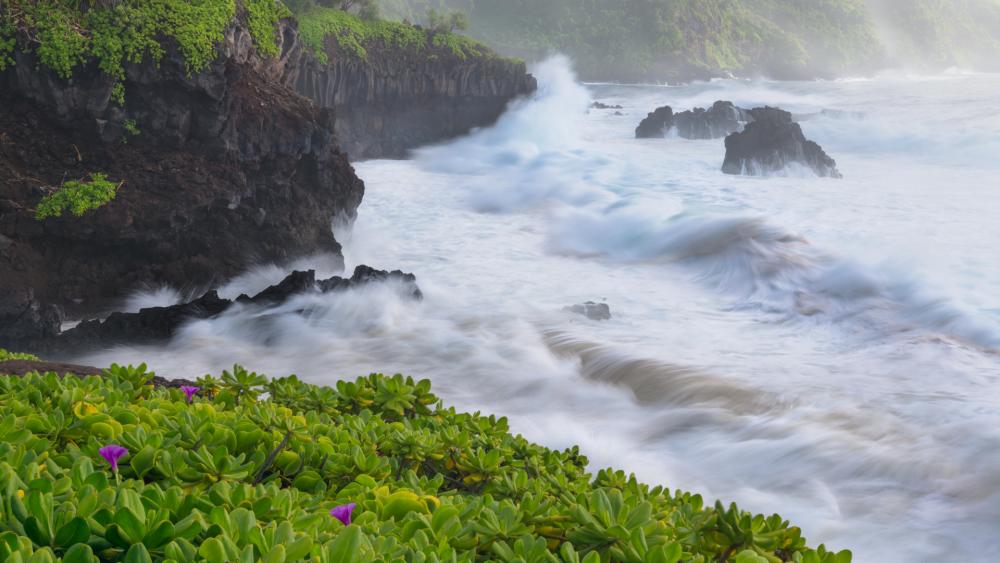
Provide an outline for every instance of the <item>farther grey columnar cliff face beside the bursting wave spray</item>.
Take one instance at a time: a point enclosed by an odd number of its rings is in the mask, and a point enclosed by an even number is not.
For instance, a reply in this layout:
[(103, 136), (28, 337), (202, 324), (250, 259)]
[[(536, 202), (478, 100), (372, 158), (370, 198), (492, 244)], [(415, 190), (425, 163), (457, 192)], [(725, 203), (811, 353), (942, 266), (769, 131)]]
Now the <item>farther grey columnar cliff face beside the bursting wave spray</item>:
[(337, 136), (351, 159), (403, 158), (410, 149), (492, 125), (512, 99), (537, 85), (524, 63), (421, 51), (368, 49), (364, 58), (327, 40), (329, 62), (306, 56), (285, 81), (336, 112)]

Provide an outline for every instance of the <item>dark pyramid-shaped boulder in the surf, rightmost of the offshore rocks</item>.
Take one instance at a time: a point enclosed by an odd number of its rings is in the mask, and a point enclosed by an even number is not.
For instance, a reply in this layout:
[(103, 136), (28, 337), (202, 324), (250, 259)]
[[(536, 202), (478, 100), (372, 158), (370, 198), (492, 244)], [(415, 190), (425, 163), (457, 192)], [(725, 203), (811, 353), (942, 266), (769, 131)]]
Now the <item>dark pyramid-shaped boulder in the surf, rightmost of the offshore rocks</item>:
[(791, 163), (808, 166), (817, 176), (840, 178), (837, 163), (816, 143), (806, 139), (802, 128), (786, 111), (776, 108), (751, 110), (754, 121), (740, 133), (726, 137), (726, 174), (768, 175)]

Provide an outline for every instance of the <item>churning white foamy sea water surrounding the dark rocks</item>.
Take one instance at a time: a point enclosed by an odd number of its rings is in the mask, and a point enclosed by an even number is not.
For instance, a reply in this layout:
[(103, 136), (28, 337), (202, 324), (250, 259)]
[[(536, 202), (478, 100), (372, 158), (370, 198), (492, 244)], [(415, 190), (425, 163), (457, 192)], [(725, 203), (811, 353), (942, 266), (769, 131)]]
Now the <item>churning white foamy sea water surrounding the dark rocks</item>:
[[(992, 560), (1000, 76), (585, 87), (558, 59), (536, 74), (536, 99), (495, 127), (358, 165), (348, 266), (413, 272), (422, 303), (301, 296), (78, 359), (427, 377), (595, 468), (780, 512), (857, 561)], [(595, 98), (623, 115), (588, 113)], [(845, 178), (726, 176), (721, 139), (632, 138), (656, 106), (717, 99), (839, 110), (802, 127)], [(613, 319), (562, 311), (586, 300)]]

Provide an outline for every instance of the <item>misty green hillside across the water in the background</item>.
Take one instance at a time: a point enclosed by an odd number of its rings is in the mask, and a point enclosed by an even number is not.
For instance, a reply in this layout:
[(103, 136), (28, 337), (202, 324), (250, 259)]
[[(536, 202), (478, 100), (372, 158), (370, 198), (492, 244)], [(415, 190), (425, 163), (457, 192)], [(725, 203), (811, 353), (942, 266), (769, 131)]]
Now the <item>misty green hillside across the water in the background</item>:
[(442, 9), (466, 12), (470, 34), (501, 53), (561, 52), (590, 80), (1000, 68), (992, 0), (383, 0), (384, 13), (412, 21)]

